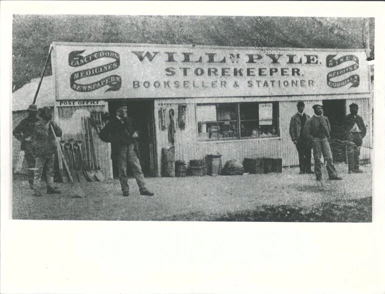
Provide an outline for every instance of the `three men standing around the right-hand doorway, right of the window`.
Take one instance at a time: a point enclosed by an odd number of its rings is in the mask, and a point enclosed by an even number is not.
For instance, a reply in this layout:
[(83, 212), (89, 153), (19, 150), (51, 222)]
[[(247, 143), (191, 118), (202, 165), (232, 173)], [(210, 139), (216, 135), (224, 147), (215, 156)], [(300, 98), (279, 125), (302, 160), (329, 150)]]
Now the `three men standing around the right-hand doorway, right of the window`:
[[(299, 173), (315, 173), (315, 179), (322, 179), (323, 155), (326, 161), (326, 170), (330, 180), (339, 180), (337, 176), (331, 149), (330, 141), (330, 123), (326, 116), (322, 115), (322, 105), (313, 105), (314, 115), (310, 117), (304, 113), (305, 104), (303, 101), (297, 103), (297, 113), (290, 120), (290, 137), (296, 146), (299, 159)], [(362, 138), (366, 135), (366, 126), (361, 116), (357, 114), (358, 105), (351, 103), (349, 105), (350, 114), (343, 119), (343, 140), (346, 143), (348, 172), (360, 173), (359, 153), (362, 145)], [(311, 149), (314, 156), (314, 172), (311, 170)]]

